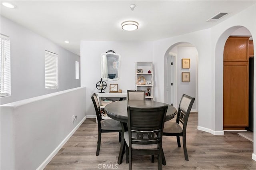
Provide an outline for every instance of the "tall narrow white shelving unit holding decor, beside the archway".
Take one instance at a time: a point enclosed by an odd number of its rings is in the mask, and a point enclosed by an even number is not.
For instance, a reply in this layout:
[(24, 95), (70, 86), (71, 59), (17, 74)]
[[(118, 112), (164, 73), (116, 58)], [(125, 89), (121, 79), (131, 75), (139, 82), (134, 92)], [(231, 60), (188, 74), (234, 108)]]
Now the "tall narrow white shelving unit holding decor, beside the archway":
[[(142, 73), (140, 71), (142, 71)], [(150, 71), (150, 73), (148, 73)], [(142, 76), (142, 78), (140, 77)], [(140, 77), (141, 81), (138, 82), (138, 78)], [(146, 85), (140, 85), (140, 83), (144, 83), (144, 79), (146, 80)], [(146, 95), (146, 100), (153, 100), (154, 97), (154, 81), (153, 81), (153, 63), (152, 62), (136, 62), (136, 90), (145, 90), (146, 94), (148, 94), (148, 89), (150, 95)], [(151, 82), (151, 84), (149, 84)]]

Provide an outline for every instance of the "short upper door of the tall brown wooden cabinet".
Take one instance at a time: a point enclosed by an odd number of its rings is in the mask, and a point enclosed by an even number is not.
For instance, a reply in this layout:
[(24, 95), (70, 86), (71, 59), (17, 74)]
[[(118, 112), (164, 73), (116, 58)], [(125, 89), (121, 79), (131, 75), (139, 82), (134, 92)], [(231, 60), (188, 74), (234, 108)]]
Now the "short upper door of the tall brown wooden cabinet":
[(229, 37), (224, 47), (224, 61), (248, 61), (248, 37)]

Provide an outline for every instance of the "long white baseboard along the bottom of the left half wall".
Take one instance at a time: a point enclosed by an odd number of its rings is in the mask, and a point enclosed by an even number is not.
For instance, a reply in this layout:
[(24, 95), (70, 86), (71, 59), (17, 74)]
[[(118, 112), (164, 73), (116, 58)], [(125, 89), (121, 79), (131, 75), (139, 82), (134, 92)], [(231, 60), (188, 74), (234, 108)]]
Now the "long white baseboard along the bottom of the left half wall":
[(85, 116), (82, 121), (80, 121), (78, 123), (78, 125), (76, 125), (76, 127), (68, 134), (68, 136), (66, 136), (66, 138), (64, 138), (64, 140), (62, 140), (62, 142), (60, 142), (60, 144), (52, 151), (52, 153), (44, 160), (44, 162), (42, 162), (42, 164), (40, 166), (38, 166), (38, 168), (36, 168), (36, 170), (43, 170), (46, 165), (52, 160), (52, 158), (58, 153), (58, 151), (62, 148), (62, 146), (68, 141), (68, 139), (72, 136), (72, 134), (74, 134), (74, 132), (76, 132), (76, 130), (80, 127), (80, 125), (82, 125), (82, 123), (85, 121), (87, 116)]

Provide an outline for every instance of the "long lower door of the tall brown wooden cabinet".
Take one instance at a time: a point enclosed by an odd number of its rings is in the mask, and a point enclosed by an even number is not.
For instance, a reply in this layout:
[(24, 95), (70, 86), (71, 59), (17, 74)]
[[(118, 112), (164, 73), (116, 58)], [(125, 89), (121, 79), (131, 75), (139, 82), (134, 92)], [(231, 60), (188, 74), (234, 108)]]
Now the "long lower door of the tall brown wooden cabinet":
[(224, 129), (248, 126), (248, 68), (248, 62), (224, 62)]

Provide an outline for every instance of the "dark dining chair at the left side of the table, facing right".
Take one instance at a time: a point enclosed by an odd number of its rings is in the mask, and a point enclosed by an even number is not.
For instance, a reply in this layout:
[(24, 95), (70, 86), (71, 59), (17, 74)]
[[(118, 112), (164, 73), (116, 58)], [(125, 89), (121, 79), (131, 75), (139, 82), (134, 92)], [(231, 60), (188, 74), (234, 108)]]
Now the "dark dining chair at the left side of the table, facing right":
[(120, 122), (114, 119), (102, 120), (101, 113), (100, 113), (100, 104), (96, 94), (93, 93), (91, 98), (92, 98), (92, 103), (94, 105), (94, 109), (95, 109), (96, 117), (98, 121), (98, 141), (97, 141), (97, 150), (96, 150), (96, 156), (98, 156), (100, 154), (101, 133), (119, 132), (119, 142), (121, 142), (122, 127)]

